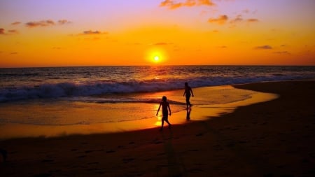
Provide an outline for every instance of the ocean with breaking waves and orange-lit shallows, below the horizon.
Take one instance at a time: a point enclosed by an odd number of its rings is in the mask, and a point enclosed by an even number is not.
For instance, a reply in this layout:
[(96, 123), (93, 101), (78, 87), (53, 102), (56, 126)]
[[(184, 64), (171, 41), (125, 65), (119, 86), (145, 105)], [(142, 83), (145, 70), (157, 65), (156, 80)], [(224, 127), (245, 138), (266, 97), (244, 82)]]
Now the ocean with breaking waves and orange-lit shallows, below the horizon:
[[(162, 96), (172, 112), (228, 104), (254, 92), (228, 85), (315, 78), (315, 66), (88, 66), (0, 69), (0, 125), (94, 125), (155, 117)], [(202, 87), (212, 87), (211, 92)], [(172, 122), (172, 121), (171, 121)]]

